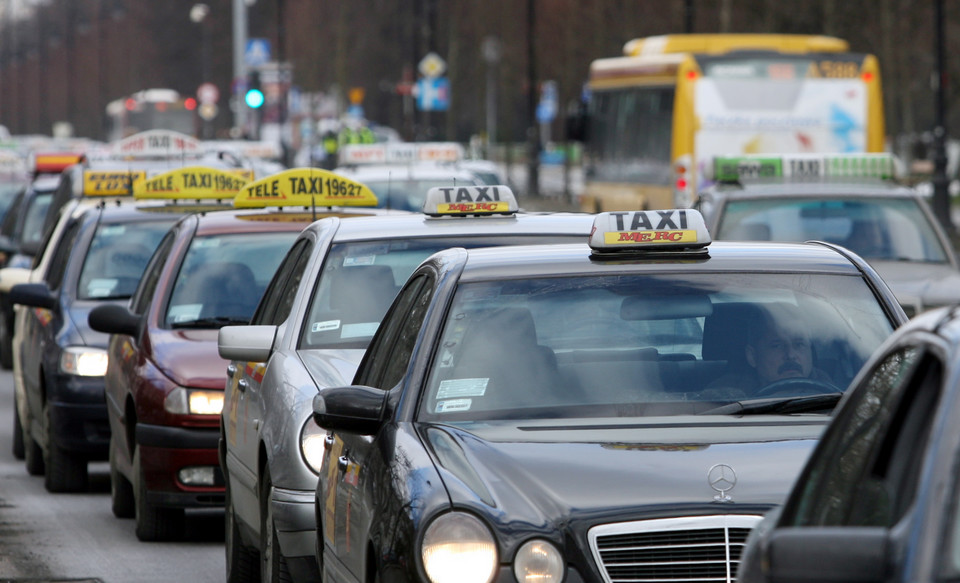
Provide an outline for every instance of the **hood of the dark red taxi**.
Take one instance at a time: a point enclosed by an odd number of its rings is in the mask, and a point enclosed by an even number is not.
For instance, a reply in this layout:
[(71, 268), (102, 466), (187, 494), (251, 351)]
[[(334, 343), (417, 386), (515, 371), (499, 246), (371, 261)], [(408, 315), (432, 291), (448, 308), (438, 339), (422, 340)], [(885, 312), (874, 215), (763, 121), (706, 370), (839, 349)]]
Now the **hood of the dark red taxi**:
[(183, 387), (220, 389), (227, 380), (227, 361), (217, 351), (219, 330), (152, 330), (153, 362)]

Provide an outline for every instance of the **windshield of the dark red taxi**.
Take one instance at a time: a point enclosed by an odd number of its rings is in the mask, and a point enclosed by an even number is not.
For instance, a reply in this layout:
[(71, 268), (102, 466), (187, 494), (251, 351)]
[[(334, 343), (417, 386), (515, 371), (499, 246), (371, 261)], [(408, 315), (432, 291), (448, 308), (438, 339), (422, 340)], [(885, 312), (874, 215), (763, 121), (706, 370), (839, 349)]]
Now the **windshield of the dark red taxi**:
[(195, 237), (163, 317), (165, 328), (247, 324), (296, 232)]

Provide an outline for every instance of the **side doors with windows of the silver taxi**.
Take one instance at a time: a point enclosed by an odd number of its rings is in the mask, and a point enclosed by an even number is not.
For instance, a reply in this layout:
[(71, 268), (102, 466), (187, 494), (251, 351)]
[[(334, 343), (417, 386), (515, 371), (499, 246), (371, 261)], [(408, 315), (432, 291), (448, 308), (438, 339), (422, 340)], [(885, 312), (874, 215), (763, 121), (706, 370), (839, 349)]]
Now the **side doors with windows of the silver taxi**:
[[(312, 250), (313, 243), (307, 238), (294, 243), (267, 286), (251, 319), (252, 325), (278, 326), (287, 319)], [(266, 406), (261, 390), (266, 367), (265, 362), (231, 362), (227, 367), (229, 378), (223, 404), (225, 460), (231, 496), (240, 518), (251, 525), (259, 525), (257, 457), (259, 423)]]

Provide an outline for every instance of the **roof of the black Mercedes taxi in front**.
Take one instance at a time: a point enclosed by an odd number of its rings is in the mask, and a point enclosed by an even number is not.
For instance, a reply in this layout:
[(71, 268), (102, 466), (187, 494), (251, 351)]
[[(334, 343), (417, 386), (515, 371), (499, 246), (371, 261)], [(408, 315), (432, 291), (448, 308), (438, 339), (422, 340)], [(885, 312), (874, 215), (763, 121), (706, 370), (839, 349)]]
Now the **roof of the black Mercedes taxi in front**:
[(665, 271), (861, 275), (860, 269), (840, 252), (818, 243), (714, 241), (707, 249), (707, 253), (618, 254), (603, 259), (593, 255), (586, 243), (471, 249), (460, 281)]

